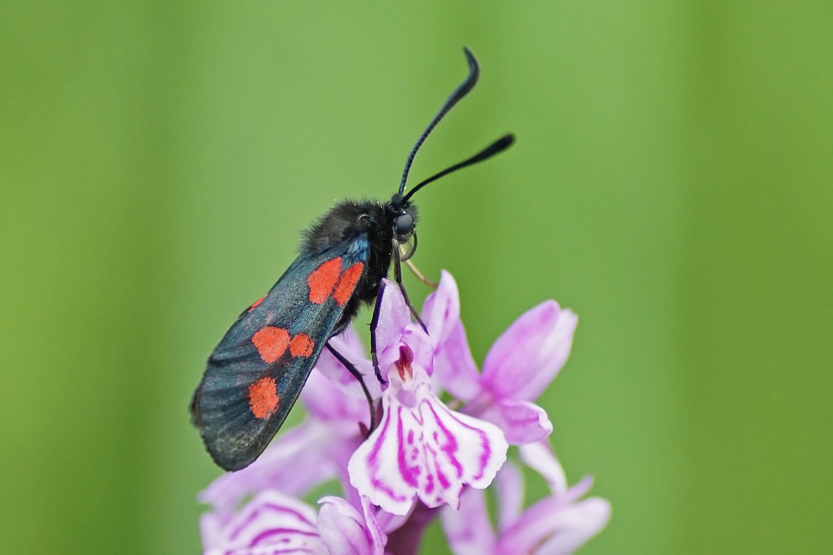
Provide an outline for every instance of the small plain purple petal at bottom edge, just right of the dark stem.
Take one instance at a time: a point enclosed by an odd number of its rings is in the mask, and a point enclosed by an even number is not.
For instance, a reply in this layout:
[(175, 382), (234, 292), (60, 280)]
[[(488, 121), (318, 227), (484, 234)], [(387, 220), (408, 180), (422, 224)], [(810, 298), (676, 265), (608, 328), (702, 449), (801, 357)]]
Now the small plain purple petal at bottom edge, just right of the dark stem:
[(442, 530), (454, 555), (488, 555), (495, 549), (495, 531), (486, 511), (486, 493), (465, 488), (460, 509), (444, 507), (440, 512)]

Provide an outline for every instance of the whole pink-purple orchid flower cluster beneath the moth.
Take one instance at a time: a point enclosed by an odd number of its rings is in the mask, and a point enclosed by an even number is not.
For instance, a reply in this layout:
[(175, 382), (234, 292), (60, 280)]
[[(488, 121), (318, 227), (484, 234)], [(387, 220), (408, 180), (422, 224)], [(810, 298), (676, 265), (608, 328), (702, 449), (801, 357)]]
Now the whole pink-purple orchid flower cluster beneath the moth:
[[(560, 555), (599, 533), (610, 504), (581, 500), (589, 478), (567, 488), (547, 440), (552, 424), (533, 403), (566, 362), (576, 315), (552, 300), (527, 311), (492, 345), (481, 372), (450, 274), (442, 273), (423, 307), (428, 334), (412, 322), (397, 285), (384, 285), (377, 349), (387, 388), (366, 379), (382, 403), (377, 429), (363, 438), (358, 423), (367, 429), (367, 400), (324, 351), (302, 391), (306, 421), (202, 492), (200, 500), (212, 505), (201, 521), (205, 553), (412, 555), (437, 517), (456, 555)], [(374, 375), (352, 329), (331, 342), (362, 374)], [(442, 390), (461, 406), (443, 403)], [(506, 460), (510, 444), (551, 488), (526, 509), (522, 474)], [(344, 498), (320, 499), (317, 513), (298, 498), (333, 478)], [(490, 485), (497, 531), (486, 511)]]

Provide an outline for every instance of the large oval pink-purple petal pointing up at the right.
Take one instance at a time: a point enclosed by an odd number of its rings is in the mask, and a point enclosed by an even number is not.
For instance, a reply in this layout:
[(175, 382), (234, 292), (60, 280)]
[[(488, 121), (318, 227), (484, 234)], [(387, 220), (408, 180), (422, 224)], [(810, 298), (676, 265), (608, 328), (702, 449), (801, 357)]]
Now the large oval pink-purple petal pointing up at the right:
[(534, 401), (566, 362), (576, 322), (554, 300), (526, 311), (486, 354), (483, 384), (498, 399)]

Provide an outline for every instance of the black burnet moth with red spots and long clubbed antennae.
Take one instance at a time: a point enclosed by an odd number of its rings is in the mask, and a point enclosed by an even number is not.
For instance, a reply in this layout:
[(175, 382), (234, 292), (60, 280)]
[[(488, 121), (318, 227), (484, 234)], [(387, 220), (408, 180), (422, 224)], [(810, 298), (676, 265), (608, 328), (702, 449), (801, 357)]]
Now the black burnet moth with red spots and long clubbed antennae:
[[(402, 286), (402, 262), (407, 262), (416, 250), (416, 206), (411, 197), (452, 171), (495, 156), (514, 141), (511, 134), (502, 136), (405, 194), (416, 152), (480, 77), (474, 54), (468, 48), (463, 52), (468, 76), (416, 140), (397, 193), (387, 202), (342, 201), (312, 224), (303, 234), (297, 259), (266, 296), (243, 311), (208, 358), (205, 373), (194, 391), (191, 414), (208, 453), (222, 468), (245, 468), (260, 456), (281, 428), (325, 348), (362, 384), (371, 405), (373, 428), (376, 410), (362, 374), (332, 348), (328, 339), (347, 328), (362, 304), (375, 301), (371, 355), (376, 377), (384, 383), (376, 354), (378, 300), (382, 278), (387, 277), (391, 262), (397, 285), (408, 299)], [(415, 267), (408, 265), (421, 278)], [(409, 300), (407, 303), (422, 324)]]

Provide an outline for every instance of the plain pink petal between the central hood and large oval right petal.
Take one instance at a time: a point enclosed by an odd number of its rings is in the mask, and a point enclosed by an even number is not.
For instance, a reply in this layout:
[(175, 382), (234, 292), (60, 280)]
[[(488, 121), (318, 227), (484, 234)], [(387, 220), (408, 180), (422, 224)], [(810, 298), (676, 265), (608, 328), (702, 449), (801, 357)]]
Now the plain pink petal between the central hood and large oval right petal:
[(457, 320), (434, 354), (434, 372), (443, 388), (457, 399), (471, 401), (481, 391), (481, 375), (471, 357), (466, 330)]

